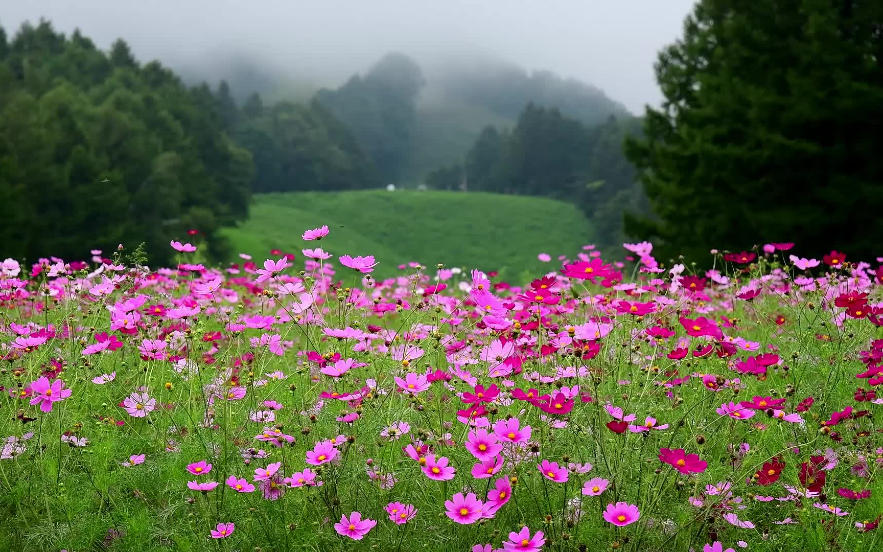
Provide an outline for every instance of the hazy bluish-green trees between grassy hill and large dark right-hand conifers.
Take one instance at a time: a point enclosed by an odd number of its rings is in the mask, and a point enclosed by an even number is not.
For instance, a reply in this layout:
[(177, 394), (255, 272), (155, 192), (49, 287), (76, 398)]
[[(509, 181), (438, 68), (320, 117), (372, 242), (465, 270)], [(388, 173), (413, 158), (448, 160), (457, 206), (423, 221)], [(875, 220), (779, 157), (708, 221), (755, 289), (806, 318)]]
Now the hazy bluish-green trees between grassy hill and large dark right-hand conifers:
[(587, 126), (532, 103), (511, 130), (487, 126), (457, 163), (430, 172), (435, 189), (543, 195), (575, 203), (598, 230), (600, 244), (622, 243), (623, 211), (647, 205), (623, 141), (640, 133), (634, 117), (608, 116)]

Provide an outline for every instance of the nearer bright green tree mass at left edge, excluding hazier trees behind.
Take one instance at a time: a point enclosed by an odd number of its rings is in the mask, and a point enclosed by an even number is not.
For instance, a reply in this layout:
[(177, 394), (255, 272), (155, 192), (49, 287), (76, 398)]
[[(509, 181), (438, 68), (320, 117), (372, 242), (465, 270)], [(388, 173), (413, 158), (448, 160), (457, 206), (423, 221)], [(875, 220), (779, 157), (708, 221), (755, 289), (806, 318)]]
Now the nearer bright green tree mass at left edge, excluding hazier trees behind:
[(90, 247), (170, 238), (247, 215), (252, 155), (210, 117), (214, 96), (125, 42), (109, 54), (42, 21), (0, 30), (0, 241), (4, 255), (82, 259)]

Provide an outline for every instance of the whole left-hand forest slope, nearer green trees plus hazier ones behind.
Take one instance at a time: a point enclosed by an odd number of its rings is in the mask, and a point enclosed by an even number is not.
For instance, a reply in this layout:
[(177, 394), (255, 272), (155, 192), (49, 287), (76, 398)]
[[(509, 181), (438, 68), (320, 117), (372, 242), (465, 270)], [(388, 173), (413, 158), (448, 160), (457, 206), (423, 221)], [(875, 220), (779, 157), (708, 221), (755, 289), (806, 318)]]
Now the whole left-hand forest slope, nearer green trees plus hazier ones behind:
[(146, 242), (166, 262), (170, 238), (244, 220), (252, 190), (379, 185), (349, 129), (317, 102), (241, 107), (225, 83), (187, 87), (119, 40), (25, 25), (0, 27), (0, 239), (4, 255), (87, 256)]

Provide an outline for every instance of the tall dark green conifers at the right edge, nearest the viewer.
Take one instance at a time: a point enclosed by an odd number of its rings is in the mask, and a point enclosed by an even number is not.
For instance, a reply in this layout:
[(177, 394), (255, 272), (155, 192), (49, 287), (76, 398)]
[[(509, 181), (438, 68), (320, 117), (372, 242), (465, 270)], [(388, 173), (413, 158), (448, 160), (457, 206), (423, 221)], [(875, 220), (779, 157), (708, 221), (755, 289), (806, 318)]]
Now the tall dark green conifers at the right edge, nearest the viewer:
[(660, 52), (665, 101), (630, 141), (671, 254), (796, 241), (883, 253), (883, 3), (703, 0)]

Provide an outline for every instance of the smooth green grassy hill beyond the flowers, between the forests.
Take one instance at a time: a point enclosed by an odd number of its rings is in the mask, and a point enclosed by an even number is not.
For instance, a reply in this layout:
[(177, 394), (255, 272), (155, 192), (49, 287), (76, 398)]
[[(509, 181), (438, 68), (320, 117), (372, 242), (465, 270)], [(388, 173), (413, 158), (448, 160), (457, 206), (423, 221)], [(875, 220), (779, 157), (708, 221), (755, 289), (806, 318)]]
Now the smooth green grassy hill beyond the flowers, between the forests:
[(378, 276), (419, 261), (429, 267), (500, 270), (519, 279), (557, 267), (537, 253), (573, 255), (592, 242), (592, 225), (561, 201), (492, 193), (370, 190), (339, 193), (268, 193), (255, 197), (251, 218), (225, 231), (233, 253), (267, 258), (270, 249), (296, 253), (300, 234), (328, 224), (321, 246), (335, 255), (374, 255)]

